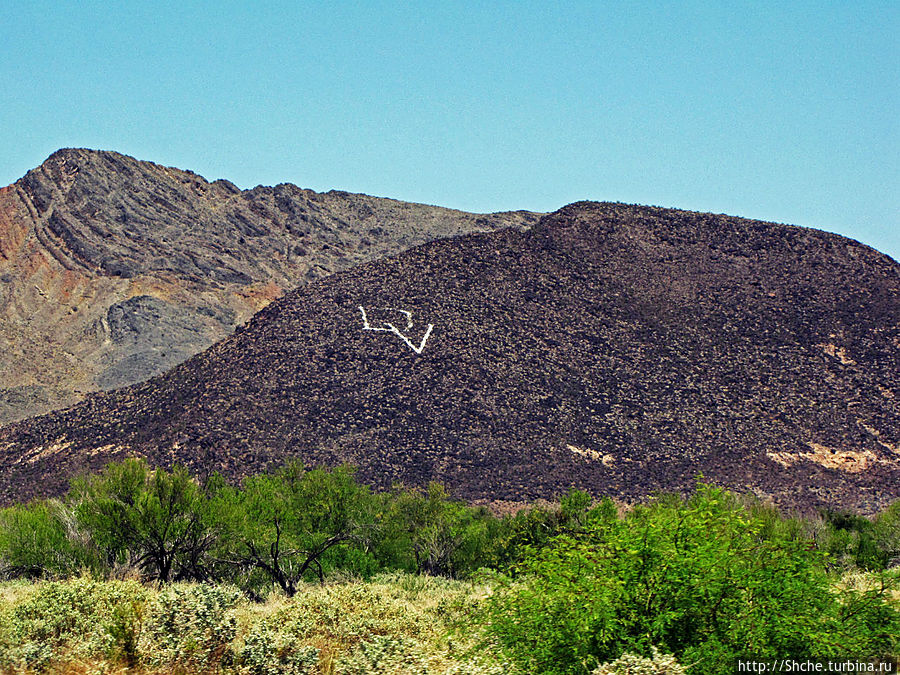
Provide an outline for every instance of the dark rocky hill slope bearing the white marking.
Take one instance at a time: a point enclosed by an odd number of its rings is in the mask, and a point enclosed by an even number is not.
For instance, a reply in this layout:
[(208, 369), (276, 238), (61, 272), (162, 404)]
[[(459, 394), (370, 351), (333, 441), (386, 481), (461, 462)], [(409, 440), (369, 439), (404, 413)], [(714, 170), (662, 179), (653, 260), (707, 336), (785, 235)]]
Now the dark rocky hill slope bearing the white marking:
[(163, 376), (5, 428), (0, 490), (128, 454), (231, 477), (297, 456), (469, 499), (703, 472), (868, 511), (900, 496), (898, 323), (900, 267), (854, 241), (575, 204), (317, 281)]

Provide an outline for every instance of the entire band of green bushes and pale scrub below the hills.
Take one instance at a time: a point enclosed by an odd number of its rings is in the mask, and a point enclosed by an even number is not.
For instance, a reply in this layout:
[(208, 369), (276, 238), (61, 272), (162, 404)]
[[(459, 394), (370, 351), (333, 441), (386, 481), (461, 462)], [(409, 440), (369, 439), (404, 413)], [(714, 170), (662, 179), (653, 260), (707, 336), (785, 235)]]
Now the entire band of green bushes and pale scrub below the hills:
[(900, 503), (875, 519), (787, 518), (700, 484), (630, 509), (571, 491), (499, 518), (439, 485), (373, 493), (347, 467), (229, 486), (129, 460), (61, 500), (0, 511), (0, 669), (721, 673), (737, 658), (896, 659), (898, 555)]

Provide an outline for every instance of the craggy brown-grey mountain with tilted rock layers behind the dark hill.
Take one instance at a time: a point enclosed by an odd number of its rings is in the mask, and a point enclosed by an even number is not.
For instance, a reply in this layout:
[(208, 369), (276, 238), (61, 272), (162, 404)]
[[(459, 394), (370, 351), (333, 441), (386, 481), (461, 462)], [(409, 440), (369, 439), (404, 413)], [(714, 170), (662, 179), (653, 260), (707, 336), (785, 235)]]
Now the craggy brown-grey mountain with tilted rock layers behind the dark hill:
[(60, 150), (0, 189), (0, 423), (144, 380), (298, 284), (435, 238), (527, 227)]

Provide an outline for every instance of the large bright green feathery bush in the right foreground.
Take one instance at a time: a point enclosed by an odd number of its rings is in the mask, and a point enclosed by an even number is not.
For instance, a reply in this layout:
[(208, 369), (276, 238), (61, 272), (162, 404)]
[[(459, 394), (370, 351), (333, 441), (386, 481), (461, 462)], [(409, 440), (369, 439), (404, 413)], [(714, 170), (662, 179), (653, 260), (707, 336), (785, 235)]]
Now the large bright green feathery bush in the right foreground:
[(764, 529), (703, 485), (623, 518), (589, 514), (582, 534), (536, 552), (491, 598), (491, 631), (524, 670), (542, 673), (583, 672), (653, 645), (697, 673), (745, 655), (897, 648), (900, 618), (884, 589), (837, 593), (811, 541)]

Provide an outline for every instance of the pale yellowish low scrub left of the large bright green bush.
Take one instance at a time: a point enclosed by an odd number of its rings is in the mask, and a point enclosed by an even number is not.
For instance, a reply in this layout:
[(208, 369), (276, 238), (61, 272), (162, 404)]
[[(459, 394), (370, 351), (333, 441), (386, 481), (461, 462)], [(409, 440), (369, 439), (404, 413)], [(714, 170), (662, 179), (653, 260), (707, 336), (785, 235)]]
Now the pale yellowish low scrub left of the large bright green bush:
[(0, 586), (0, 672), (505, 673), (455, 631), (483, 586), (407, 574), (249, 601), (225, 585), (88, 576)]

